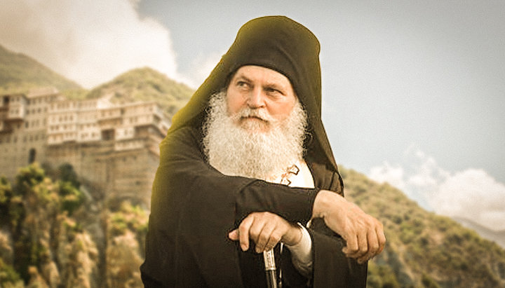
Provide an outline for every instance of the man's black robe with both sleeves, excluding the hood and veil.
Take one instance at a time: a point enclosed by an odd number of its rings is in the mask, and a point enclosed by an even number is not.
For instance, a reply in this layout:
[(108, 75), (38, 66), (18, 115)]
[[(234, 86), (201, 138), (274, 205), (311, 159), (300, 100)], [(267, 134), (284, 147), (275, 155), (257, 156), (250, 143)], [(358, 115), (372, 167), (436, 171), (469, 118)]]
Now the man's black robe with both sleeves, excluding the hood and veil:
[[(306, 157), (316, 188), (290, 188), (258, 179), (230, 177), (210, 166), (201, 151), (201, 130), (170, 133), (152, 191), (146, 260), (140, 270), (146, 287), (264, 287), (262, 256), (242, 252), (229, 231), (250, 212), (269, 211), (290, 222), (307, 223), (320, 189), (342, 194), (337, 172)], [(308, 149), (313, 151), (314, 149)], [(344, 240), (314, 219), (313, 273), (308, 279), (281, 256), (284, 287), (365, 287), (367, 266), (342, 253)], [(244, 260), (245, 259), (245, 260)]]

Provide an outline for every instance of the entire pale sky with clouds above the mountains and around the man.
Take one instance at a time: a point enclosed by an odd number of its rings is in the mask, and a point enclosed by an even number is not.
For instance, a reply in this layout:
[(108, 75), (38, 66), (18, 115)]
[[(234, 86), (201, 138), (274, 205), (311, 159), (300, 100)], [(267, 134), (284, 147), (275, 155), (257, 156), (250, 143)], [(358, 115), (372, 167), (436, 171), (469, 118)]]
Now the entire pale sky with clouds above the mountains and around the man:
[(2, 0), (0, 45), (85, 88), (146, 66), (197, 88), (263, 15), (321, 42), (337, 163), (505, 229), (505, 1)]

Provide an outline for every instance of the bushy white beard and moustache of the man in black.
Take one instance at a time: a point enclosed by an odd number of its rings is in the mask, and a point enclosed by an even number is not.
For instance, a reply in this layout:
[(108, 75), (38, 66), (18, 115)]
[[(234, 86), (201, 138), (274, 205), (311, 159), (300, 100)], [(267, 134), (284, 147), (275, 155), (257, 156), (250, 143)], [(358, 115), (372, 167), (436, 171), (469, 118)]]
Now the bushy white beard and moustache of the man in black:
[[(203, 125), (203, 151), (210, 165), (223, 174), (273, 181), (304, 153), (307, 114), (297, 101), (283, 121), (260, 109), (245, 108), (234, 116), (227, 111), (226, 93), (213, 95)], [(241, 116), (258, 116), (264, 121), (245, 121)], [(267, 131), (259, 131), (267, 128)]]

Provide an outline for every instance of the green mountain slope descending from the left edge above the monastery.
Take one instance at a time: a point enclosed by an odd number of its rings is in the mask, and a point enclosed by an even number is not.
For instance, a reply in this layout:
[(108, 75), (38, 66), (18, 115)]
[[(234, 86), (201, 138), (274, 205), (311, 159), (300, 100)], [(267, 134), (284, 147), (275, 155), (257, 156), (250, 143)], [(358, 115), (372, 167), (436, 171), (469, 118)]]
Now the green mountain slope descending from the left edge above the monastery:
[(44, 86), (53, 86), (61, 91), (81, 88), (31, 57), (0, 46), (0, 92), (25, 92)]

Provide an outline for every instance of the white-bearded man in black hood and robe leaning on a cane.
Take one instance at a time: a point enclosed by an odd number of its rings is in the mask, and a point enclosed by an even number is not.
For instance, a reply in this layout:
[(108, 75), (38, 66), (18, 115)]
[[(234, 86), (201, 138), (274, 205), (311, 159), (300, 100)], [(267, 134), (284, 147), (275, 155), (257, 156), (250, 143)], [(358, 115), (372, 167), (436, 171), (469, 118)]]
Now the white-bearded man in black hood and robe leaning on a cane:
[(160, 145), (141, 266), (146, 287), (364, 287), (382, 224), (343, 198), (321, 121), (319, 43), (251, 20)]

